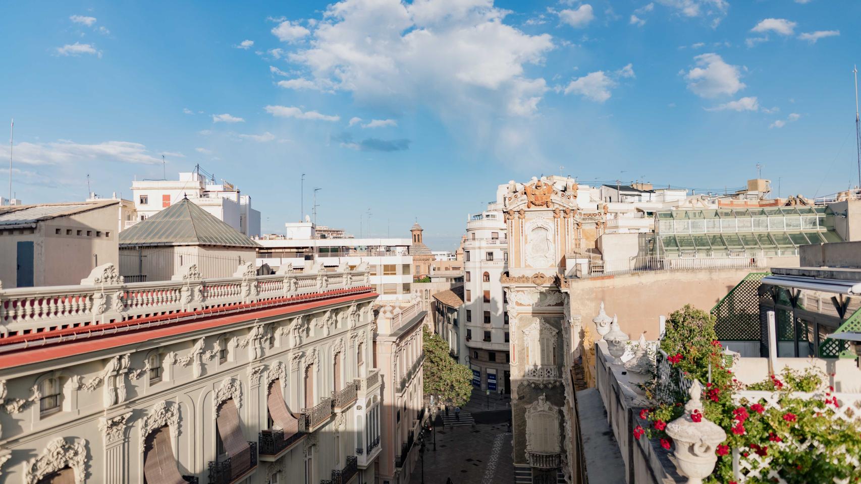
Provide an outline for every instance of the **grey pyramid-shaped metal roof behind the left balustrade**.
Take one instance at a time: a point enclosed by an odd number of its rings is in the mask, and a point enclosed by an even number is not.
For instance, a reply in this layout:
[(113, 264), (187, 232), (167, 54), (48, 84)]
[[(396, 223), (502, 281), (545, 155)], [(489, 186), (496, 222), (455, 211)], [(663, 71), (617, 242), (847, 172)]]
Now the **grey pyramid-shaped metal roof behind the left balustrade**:
[(120, 232), (121, 248), (152, 245), (259, 246), (189, 199), (182, 199)]

